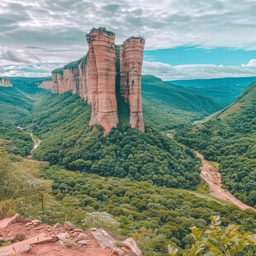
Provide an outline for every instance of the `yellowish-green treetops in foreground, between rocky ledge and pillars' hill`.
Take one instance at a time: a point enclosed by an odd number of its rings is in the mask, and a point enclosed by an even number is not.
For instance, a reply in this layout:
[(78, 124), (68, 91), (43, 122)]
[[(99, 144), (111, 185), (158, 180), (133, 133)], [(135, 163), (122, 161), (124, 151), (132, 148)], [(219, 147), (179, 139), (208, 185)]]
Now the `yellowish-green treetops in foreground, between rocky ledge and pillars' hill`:
[(205, 228), (212, 215), (223, 216), (225, 226), (235, 222), (250, 232), (256, 227), (255, 212), (241, 211), (198, 192), (69, 172), (55, 166), (46, 168), (42, 177), (53, 180), (53, 195), (70, 203), (72, 209), (107, 211), (114, 216), (121, 224), (121, 235), (133, 237), (145, 255), (168, 255), (167, 244), (189, 248), (194, 241), (190, 228)]

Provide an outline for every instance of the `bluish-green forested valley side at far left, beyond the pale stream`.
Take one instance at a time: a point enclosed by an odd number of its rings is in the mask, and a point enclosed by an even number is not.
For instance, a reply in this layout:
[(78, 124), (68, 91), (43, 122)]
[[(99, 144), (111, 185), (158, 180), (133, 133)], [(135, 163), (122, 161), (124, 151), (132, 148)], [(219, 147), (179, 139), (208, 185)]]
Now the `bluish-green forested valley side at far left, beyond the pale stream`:
[(12, 88), (0, 87), (0, 139), (12, 140), (12, 152), (25, 156), (32, 148), (31, 136), (17, 129), (21, 118), (30, 114), (42, 78), (8, 78)]

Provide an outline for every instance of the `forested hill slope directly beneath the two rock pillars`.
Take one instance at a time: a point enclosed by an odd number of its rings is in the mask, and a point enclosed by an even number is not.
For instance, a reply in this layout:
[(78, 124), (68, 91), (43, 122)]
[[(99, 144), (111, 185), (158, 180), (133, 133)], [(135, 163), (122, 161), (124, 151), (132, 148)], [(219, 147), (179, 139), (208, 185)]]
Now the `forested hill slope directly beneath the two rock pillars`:
[(194, 188), (199, 162), (189, 149), (147, 127), (146, 132), (118, 126), (107, 136), (90, 127), (91, 107), (78, 95), (45, 94), (24, 119), (43, 142), (36, 159), (101, 176), (151, 180), (166, 187)]

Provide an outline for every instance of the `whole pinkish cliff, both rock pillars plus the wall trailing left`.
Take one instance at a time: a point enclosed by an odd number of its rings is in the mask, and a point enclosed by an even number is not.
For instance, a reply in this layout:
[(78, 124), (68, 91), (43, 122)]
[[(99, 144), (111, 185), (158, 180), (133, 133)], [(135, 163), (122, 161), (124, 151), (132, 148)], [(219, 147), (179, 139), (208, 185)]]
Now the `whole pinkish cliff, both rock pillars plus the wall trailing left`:
[[(52, 82), (41, 88), (54, 93), (73, 92), (92, 105), (90, 126), (104, 128), (104, 135), (118, 124), (116, 102), (115, 34), (93, 29), (88, 33), (88, 54), (52, 72)], [(121, 96), (130, 106), (130, 126), (145, 130), (141, 101), (141, 69), (145, 40), (133, 37), (120, 46)], [(117, 74), (119, 75), (119, 73)]]

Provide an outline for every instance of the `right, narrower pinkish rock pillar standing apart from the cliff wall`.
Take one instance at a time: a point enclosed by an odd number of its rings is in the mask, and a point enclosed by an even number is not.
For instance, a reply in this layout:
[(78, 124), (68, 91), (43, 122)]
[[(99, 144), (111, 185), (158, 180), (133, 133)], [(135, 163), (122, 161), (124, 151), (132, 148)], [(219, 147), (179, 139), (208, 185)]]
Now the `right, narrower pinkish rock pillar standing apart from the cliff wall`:
[(144, 46), (141, 37), (130, 37), (120, 46), (121, 96), (130, 106), (130, 126), (141, 131), (145, 131), (141, 99)]

